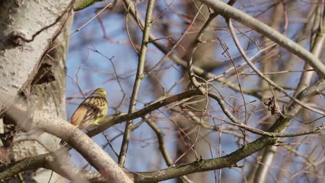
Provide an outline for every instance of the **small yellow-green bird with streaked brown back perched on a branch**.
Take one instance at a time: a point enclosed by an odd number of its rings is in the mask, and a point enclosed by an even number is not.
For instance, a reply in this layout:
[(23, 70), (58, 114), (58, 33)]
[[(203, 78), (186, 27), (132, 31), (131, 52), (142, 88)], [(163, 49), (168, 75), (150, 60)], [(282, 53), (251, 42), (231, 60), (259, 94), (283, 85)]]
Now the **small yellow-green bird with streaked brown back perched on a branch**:
[[(106, 90), (98, 88), (78, 106), (74, 114), (72, 114), (71, 123), (80, 130), (92, 128), (106, 116), (107, 111)], [(65, 144), (65, 141), (60, 141), (61, 146)]]

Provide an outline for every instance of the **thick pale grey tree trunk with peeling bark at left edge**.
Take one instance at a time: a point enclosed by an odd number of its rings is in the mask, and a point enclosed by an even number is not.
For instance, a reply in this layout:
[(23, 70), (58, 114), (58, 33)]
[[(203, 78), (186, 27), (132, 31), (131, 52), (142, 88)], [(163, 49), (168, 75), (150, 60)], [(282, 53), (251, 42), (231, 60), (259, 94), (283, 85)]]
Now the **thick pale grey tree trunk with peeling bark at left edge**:
[[(0, 89), (30, 110), (66, 119), (65, 61), (73, 19), (72, 1), (1, 1)], [(1, 151), (9, 163), (51, 152), (58, 138), (37, 130), (22, 131), (3, 113)], [(19, 115), (19, 114), (17, 114)], [(3, 160), (3, 159), (1, 159)], [(56, 173), (38, 169), (23, 173), (25, 182), (66, 182)], [(17, 181), (12, 178), (11, 182)]]

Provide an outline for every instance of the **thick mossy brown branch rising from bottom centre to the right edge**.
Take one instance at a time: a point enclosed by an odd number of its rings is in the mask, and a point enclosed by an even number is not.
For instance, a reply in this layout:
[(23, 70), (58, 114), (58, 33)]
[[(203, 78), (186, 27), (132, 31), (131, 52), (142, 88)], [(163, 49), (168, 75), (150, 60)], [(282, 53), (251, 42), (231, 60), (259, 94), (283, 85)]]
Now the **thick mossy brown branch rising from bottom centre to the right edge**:
[[(325, 89), (325, 80), (319, 80), (313, 86), (304, 89), (298, 96), (297, 99), (302, 102), (309, 101), (311, 97), (319, 94), (319, 91)], [(276, 123), (269, 129), (269, 132), (281, 132), (284, 130), (292, 116), (296, 115), (299, 110), (301, 110), (301, 105), (298, 103), (293, 103), (289, 106), (286, 114), (288, 116), (280, 117)], [(163, 169), (160, 171), (153, 171), (150, 173), (140, 173), (133, 174), (135, 182), (158, 182), (162, 180), (171, 179), (174, 177), (180, 177), (182, 175), (188, 175), (190, 173), (200, 172), (200, 171), (210, 171), (219, 168), (231, 167), (236, 164), (241, 159), (248, 157), (249, 155), (258, 152), (265, 146), (272, 145), (276, 143), (277, 138), (272, 137), (260, 137), (251, 143), (248, 143), (243, 148), (236, 150), (230, 155), (216, 159), (201, 160), (199, 162), (192, 162), (190, 164), (183, 164), (180, 166), (174, 166), (172, 168)]]

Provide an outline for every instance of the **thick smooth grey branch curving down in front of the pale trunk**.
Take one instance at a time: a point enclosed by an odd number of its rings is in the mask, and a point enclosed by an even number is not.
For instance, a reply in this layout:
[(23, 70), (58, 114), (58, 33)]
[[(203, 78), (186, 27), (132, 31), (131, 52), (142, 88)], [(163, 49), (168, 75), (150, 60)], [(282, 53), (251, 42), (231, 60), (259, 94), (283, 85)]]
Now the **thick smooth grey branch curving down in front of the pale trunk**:
[[(1, 98), (1, 102), (10, 106), (3, 98)], [(22, 128), (33, 125), (35, 128), (44, 130), (44, 132), (67, 141), (109, 182), (132, 182), (97, 143), (94, 143), (90, 137), (67, 121), (38, 111), (32, 112), (32, 115), (29, 115), (30, 113), (14, 106), (11, 106), (6, 111), (6, 114), (12, 117), (14, 121), (17, 121), (18, 125), (22, 125)]]

